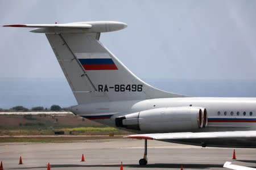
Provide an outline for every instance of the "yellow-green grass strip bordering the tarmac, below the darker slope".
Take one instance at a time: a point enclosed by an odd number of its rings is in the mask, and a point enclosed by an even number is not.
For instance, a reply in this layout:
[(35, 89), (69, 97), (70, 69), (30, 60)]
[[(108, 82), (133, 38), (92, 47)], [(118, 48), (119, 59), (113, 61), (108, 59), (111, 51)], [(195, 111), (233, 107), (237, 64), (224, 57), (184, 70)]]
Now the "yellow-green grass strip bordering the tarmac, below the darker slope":
[[(54, 131), (65, 131), (64, 136), (54, 135)], [(68, 135), (67, 135), (68, 134)], [(114, 137), (110, 137), (114, 134)], [(92, 139), (113, 139), (121, 138), (128, 134), (127, 131), (115, 129), (112, 127), (61, 127), (53, 126), (44, 127), (38, 125), (32, 126), (0, 126), (0, 143), (1, 142), (68, 142), (68, 141), (85, 141)], [(1, 137), (1, 135), (10, 135), (10, 137)], [(17, 135), (18, 137), (12, 137)], [(19, 137), (20, 135), (20, 137)], [(30, 137), (23, 137), (30, 135)], [(31, 136), (32, 135), (32, 136)], [(33, 135), (40, 135), (40, 137)], [(52, 135), (52, 136), (47, 136)], [(79, 135), (79, 136), (78, 136)], [(84, 136), (80, 136), (84, 135)], [(89, 136), (90, 135), (90, 136)], [(117, 136), (117, 135), (121, 135)]]

